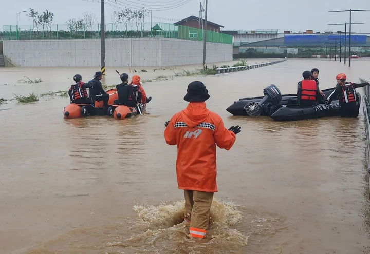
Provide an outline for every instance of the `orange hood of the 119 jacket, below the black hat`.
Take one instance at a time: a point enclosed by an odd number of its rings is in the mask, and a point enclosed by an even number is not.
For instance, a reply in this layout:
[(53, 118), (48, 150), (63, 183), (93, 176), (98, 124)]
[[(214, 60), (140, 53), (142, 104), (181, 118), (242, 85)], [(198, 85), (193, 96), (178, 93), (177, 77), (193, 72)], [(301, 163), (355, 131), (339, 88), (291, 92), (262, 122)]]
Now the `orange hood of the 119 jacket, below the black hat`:
[(186, 109), (181, 111), (181, 116), (188, 127), (194, 128), (204, 122), (209, 113), (205, 102), (191, 102)]

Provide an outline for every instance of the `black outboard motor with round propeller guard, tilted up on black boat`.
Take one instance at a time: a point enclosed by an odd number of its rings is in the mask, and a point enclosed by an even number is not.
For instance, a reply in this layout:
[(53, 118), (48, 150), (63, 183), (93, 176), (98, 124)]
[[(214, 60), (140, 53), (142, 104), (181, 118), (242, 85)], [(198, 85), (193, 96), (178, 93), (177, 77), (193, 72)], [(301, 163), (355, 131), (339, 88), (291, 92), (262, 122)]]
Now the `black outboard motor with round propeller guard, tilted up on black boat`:
[(279, 103), (282, 100), (282, 95), (278, 87), (275, 85), (269, 85), (264, 89), (264, 99), (259, 103), (250, 102), (244, 109), (250, 116), (258, 116), (260, 114), (271, 115), (278, 110)]

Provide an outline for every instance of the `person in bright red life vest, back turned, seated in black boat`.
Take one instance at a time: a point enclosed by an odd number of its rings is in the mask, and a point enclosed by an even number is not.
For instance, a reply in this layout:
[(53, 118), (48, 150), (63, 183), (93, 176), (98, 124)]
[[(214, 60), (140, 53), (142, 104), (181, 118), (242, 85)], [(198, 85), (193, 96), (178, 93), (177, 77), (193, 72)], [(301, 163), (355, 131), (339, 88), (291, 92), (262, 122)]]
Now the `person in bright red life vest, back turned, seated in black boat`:
[(302, 106), (313, 106), (320, 99), (320, 90), (314, 80), (311, 80), (311, 72), (304, 71), (302, 73), (303, 80), (298, 82), (297, 100)]

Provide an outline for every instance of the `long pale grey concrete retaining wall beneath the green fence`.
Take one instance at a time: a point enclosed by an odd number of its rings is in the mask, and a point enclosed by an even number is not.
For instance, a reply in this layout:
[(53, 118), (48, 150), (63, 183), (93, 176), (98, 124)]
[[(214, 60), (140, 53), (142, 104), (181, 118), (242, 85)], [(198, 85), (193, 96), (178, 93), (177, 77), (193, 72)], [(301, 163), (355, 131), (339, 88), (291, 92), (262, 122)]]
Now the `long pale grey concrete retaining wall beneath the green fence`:
[[(4, 55), (21, 67), (100, 66), (100, 40), (4, 41)], [(107, 39), (105, 66), (201, 64), (203, 42), (169, 38)], [(207, 43), (207, 63), (232, 60), (232, 45)], [(12, 66), (12, 65), (10, 65)]]

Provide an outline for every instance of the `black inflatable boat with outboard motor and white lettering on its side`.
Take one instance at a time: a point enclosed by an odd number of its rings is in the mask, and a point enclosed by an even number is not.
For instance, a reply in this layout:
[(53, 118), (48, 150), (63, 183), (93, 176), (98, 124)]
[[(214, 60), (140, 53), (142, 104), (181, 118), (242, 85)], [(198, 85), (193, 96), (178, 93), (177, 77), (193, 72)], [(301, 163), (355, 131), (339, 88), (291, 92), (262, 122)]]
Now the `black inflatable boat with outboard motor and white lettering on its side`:
[[(335, 88), (323, 90), (327, 98)], [(275, 85), (269, 85), (264, 89), (264, 97), (243, 98), (234, 102), (226, 110), (233, 115), (267, 115), (275, 121), (297, 121), (305, 119), (322, 118), (325, 116), (339, 115), (339, 101), (331, 104), (324, 103), (307, 107), (298, 105), (297, 95), (281, 95)], [(361, 105), (361, 95), (356, 92), (357, 106)]]

